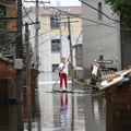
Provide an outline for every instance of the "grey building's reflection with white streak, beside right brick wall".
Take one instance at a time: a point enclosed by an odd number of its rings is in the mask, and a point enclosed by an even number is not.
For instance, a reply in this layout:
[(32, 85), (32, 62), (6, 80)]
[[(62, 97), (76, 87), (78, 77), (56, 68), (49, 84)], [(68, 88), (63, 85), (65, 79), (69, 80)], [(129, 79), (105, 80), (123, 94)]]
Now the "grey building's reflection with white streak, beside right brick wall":
[(92, 93), (85, 96), (84, 102), (86, 131), (106, 131), (106, 103), (103, 95)]

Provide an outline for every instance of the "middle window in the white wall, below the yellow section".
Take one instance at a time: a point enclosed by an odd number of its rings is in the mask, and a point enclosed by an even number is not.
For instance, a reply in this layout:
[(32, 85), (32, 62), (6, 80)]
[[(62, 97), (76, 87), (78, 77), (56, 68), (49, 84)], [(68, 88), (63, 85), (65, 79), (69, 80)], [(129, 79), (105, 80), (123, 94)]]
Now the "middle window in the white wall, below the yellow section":
[(52, 39), (51, 40), (51, 52), (59, 52), (60, 51), (60, 39)]

